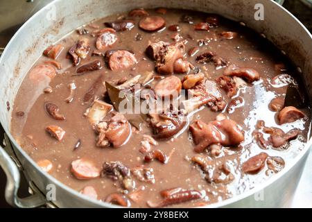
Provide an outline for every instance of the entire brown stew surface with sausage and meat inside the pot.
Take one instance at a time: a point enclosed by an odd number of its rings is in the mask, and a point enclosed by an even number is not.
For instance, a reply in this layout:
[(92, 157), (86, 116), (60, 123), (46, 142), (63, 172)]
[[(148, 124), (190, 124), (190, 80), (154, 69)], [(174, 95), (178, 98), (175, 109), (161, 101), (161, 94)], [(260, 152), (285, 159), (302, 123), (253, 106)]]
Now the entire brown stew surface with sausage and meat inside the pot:
[(283, 171), (309, 138), (291, 62), (218, 15), (136, 9), (42, 51), (17, 94), (12, 134), (44, 171), (89, 198), (216, 203)]

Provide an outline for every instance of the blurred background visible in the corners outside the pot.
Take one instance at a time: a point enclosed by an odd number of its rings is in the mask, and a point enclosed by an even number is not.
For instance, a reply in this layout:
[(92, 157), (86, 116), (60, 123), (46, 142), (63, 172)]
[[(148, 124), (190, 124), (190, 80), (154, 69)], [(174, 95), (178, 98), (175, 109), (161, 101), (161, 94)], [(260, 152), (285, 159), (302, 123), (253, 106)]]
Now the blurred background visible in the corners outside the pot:
[[(6, 44), (10, 41), (10, 38), (18, 30), (18, 28), (27, 21), (37, 10), (40, 10), (47, 3), (53, 0), (0, 0), (0, 56), (1, 51), (5, 48)], [(280, 2), (283, 0), (279, 0)], [(312, 33), (312, 0), (284, 0), (284, 8), (290, 11), (295, 17), (297, 17)], [(3, 141), (3, 130), (0, 126), (0, 143)], [(298, 186), (297, 193), (295, 195), (294, 202), (295, 207), (305, 207), (304, 203), (301, 203), (302, 197), (306, 196), (306, 193), (300, 189), (302, 187), (312, 187), (309, 184), (311, 180), (305, 180), (305, 178), (312, 178), (312, 157), (309, 157), (309, 167), (306, 166), (300, 185)], [(22, 182), (23, 183), (23, 182)], [(4, 187), (6, 185), (6, 176), (2, 169), (0, 169), (0, 208), (10, 207), (6, 200), (4, 200)], [(299, 190), (299, 191), (298, 191)], [(26, 196), (28, 193), (28, 187), (24, 182), (21, 186), (20, 196)], [(311, 196), (311, 189), (306, 192), (308, 196)], [(309, 207), (309, 206), (308, 206)], [(311, 207), (311, 206), (310, 206)]]

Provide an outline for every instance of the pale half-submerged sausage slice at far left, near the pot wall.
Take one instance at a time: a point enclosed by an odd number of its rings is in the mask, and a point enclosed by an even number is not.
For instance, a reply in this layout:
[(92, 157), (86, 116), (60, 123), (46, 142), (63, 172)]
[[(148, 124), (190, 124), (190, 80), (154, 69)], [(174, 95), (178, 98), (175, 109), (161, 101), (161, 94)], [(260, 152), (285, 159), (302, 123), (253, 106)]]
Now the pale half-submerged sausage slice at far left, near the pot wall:
[(49, 78), (53, 79), (56, 76), (56, 70), (51, 65), (36, 65), (31, 69), (29, 74), (29, 78), (33, 81), (33, 83), (40, 83)]

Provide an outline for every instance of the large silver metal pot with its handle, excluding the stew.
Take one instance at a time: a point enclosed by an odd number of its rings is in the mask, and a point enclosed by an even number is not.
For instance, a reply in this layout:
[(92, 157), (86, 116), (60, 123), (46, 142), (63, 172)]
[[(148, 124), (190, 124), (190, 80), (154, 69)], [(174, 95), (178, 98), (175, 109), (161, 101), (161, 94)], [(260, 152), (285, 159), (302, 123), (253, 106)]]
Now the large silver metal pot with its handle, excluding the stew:
[[(254, 19), (254, 7), (261, 3), (264, 20)], [(259, 5), (257, 5), (259, 6)], [(0, 120), (8, 135), (6, 151), (0, 148), (0, 164), (8, 176), (6, 200), (16, 207), (36, 207), (49, 203), (57, 207), (112, 207), (107, 203), (90, 200), (55, 180), (36, 166), (10, 134), (11, 110), (6, 109), (7, 101), (12, 105), (19, 85), (33, 62), (49, 44), (71, 32), (73, 29), (92, 21), (132, 8), (187, 8), (215, 12), (229, 19), (243, 22), (258, 33), (266, 36), (281, 51), (287, 54), (298, 70), (307, 92), (312, 98), (312, 36), (304, 26), (274, 1), (268, 0), (56, 0), (37, 12), (12, 37), (0, 59)], [(281, 207), (286, 206), (300, 179), (312, 141), (294, 158), (293, 162), (270, 180), (255, 189), (234, 196), (209, 207)], [(12, 146), (10, 146), (12, 144)], [(7, 153), (8, 152), (8, 153)], [(19, 171), (26, 174), (35, 194), (26, 199), (17, 197)], [(55, 189), (54, 189), (55, 188)], [(51, 196), (55, 191), (55, 199)], [(48, 201), (45, 194), (51, 197)], [(50, 195), (50, 196), (49, 196)]]

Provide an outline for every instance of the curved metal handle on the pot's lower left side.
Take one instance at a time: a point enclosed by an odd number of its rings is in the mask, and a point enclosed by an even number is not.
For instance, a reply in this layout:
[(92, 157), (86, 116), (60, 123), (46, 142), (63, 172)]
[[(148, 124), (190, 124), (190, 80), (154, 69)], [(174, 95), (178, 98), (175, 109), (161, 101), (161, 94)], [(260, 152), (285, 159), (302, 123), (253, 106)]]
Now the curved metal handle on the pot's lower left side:
[(17, 165), (11, 159), (11, 157), (4, 151), (4, 148), (0, 146), (0, 167), (2, 167), (4, 173), (6, 173), (6, 201), (13, 207), (31, 208), (40, 207), (46, 203), (44, 195), (41, 193), (35, 193), (26, 198), (19, 198), (17, 191), (19, 190), (20, 174), (17, 169)]

